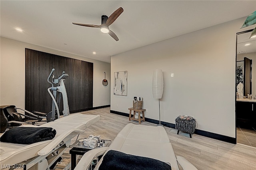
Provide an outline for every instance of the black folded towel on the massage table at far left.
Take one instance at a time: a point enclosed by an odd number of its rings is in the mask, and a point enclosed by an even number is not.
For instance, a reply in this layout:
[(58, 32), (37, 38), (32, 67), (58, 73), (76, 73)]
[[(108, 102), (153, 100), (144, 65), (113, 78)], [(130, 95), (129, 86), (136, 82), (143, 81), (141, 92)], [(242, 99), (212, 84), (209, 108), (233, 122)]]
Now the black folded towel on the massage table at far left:
[(56, 135), (56, 130), (46, 127), (17, 127), (6, 131), (1, 137), (1, 142), (14, 144), (32, 144), (44, 140), (51, 140)]

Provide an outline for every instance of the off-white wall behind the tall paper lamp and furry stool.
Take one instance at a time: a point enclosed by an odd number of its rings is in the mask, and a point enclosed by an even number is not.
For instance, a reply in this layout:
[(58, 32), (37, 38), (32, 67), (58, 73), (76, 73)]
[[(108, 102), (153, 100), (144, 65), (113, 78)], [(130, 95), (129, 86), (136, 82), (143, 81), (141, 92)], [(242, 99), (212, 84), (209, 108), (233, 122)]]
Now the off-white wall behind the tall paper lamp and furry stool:
[[(159, 120), (152, 74), (162, 69), (161, 121), (175, 124), (180, 114), (194, 116), (198, 129), (235, 138), (236, 33), (245, 18), (226, 22), (111, 57), (114, 72), (128, 71), (128, 96), (113, 94), (111, 110), (129, 113), (133, 96), (143, 97), (147, 118)], [(174, 77), (170, 74), (174, 73)]]

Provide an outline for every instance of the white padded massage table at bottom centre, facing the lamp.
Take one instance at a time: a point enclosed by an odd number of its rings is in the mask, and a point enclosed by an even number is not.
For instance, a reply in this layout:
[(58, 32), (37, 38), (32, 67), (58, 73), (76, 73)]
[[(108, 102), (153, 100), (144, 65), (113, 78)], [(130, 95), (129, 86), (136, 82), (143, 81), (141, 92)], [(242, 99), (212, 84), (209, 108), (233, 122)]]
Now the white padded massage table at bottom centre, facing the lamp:
[[(168, 162), (172, 170), (179, 170), (178, 163), (185, 170), (197, 170), (182, 156), (175, 156), (172, 145), (162, 126), (146, 126), (140, 124), (127, 124), (116, 136), (109, 147), (90, 150), (82, 156), (74, 170), (87, 170), (92, 160), (98, 156), (104, 158), (108, 150), (116, 150), (135, 156), (153, 158), (162, 162)], [(102, 158), (96, 165), (98, 170)]]

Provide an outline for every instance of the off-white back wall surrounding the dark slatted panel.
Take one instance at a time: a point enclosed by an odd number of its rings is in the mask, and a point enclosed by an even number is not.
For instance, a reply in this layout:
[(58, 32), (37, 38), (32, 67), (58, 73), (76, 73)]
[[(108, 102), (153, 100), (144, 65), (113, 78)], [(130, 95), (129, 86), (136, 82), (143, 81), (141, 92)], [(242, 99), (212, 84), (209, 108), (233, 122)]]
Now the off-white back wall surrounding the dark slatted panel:
[(106, 72), (106, 79), (110, 80), (110, 63), (3, 37), (0, 38), (0, 45), (0, 105), (11, 104), (20, 108), (25, 107), (25, 48), (92, 62), (94, 66), (93, 107), (110, 104), (110, 81), (108, 86), (102, 85), (104, 72)]

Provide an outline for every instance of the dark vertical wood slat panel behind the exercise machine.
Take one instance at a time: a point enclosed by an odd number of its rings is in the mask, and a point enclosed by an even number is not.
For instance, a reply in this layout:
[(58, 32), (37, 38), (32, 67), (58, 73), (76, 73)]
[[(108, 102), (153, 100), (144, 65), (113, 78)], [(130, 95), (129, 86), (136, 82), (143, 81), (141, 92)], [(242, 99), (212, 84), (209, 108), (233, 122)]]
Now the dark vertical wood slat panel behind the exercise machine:
[[(52, 68), (55, 78), (65, 71), (65, 80), (70, 113), (92, 108), (93, 101), (93, 63), (67, 58), (46, 52), (25, 49), (25, 109), (49, 113), (52, 98), (47, 92), (51, 86), (47, 82)], [(62, 114), (63, 104), (60, 105)]]

